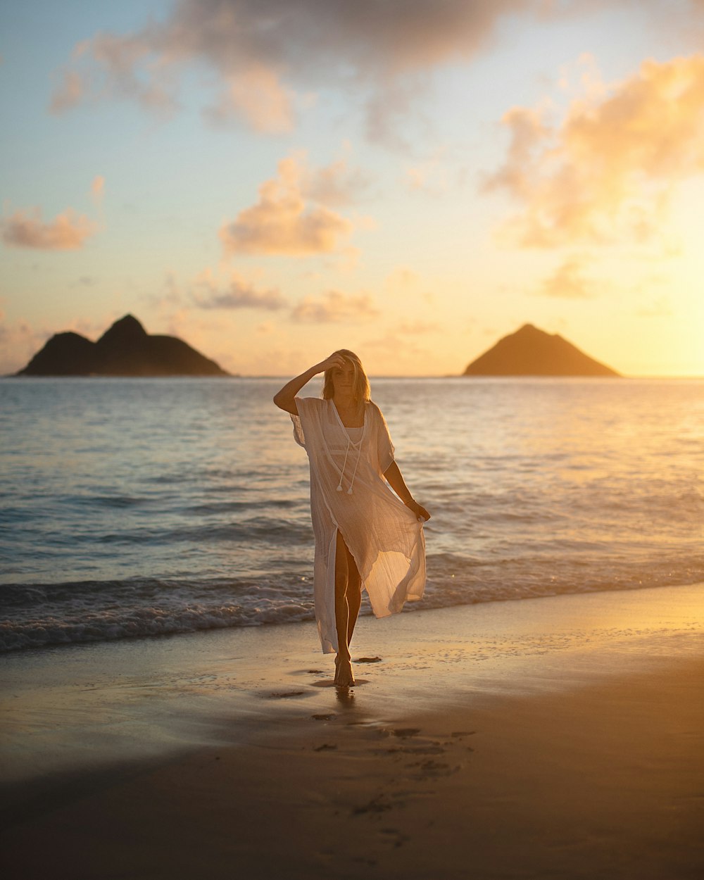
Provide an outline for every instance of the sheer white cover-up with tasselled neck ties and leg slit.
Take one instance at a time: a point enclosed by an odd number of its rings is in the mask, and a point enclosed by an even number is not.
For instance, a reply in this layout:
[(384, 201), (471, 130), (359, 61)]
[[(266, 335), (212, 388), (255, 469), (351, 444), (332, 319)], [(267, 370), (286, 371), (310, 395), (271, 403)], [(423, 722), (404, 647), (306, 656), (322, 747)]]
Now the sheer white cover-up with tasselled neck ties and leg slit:
[[(337, 532), (356, 561), (376, 617), (400, 612), (405, 602), (422, 598), (425, 537), (422, 523), (384, 479), (393, 462), (393, 445), (376, 404), (365, 404), (362, 437), (356, 443), (332, 400), (297, 397), (296, 406), (293, 436), (311, 465), (315, 616), (323, 651), (329, 654), (338, 649)], [(355, 429), (350, 431), (355, 436)]]

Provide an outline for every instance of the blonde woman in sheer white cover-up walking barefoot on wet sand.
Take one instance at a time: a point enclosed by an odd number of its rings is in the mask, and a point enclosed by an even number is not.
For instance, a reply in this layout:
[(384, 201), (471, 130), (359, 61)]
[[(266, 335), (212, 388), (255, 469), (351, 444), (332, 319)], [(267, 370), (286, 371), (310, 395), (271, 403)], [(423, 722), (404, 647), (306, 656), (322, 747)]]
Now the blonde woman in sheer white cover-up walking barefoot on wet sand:
[[(297, 397), (320, 372), (323, 399)], [(393, 460), (384, 416), (370, 400), (354, 352), (335, 351), (291, 379), (274, 402), (290, 413), (296, 442), (310, 459), (315, 616), (323, 651), (337, 652), (335, 684), (351, 686), (349, 642), (362, 588), (377, 617), (422, 598), (422, 523), (430, 514), (414, 501)]]

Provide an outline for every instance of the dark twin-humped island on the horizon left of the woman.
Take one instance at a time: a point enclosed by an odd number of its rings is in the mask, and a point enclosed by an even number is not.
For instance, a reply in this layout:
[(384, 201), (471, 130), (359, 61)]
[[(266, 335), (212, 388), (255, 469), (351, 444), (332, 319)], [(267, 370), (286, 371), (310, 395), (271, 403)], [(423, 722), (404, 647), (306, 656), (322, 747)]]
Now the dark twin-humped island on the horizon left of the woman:
[(58, 333), (18, 376), (229, 376), (215, 361), (175, 336), (150, 336), (132, 315), (97, 342)]

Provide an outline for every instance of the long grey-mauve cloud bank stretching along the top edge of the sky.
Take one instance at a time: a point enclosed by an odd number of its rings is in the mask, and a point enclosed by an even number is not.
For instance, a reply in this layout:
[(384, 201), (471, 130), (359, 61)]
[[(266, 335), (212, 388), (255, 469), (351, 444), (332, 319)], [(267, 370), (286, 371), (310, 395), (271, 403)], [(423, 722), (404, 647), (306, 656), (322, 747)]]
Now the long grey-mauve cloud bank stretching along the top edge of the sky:
[(99, 33), (74, 50), (51, 108), (132, 99), (158, 112), (179, 102), (189, 67), (216, 73), (212, 121), (232, 116), (258, 131), (288, 131), (297, 95), (354, 93), (373, 139), (400, 141), (400, 122), (429, 73), (471, 59), (510, 16), (557, 18), (586, 0), (180, 0), (162, 21), (135, 33)]

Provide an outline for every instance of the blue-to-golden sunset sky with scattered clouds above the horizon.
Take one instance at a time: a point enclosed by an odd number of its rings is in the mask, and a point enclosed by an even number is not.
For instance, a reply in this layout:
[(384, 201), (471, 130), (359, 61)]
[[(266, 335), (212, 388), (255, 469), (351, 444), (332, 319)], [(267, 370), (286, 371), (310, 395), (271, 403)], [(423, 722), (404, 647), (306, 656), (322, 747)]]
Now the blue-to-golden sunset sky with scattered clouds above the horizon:
[(702, 0), (2, 0), (0, 374), (127, 313), (242, 375), (532, 323), (704, 376)]

